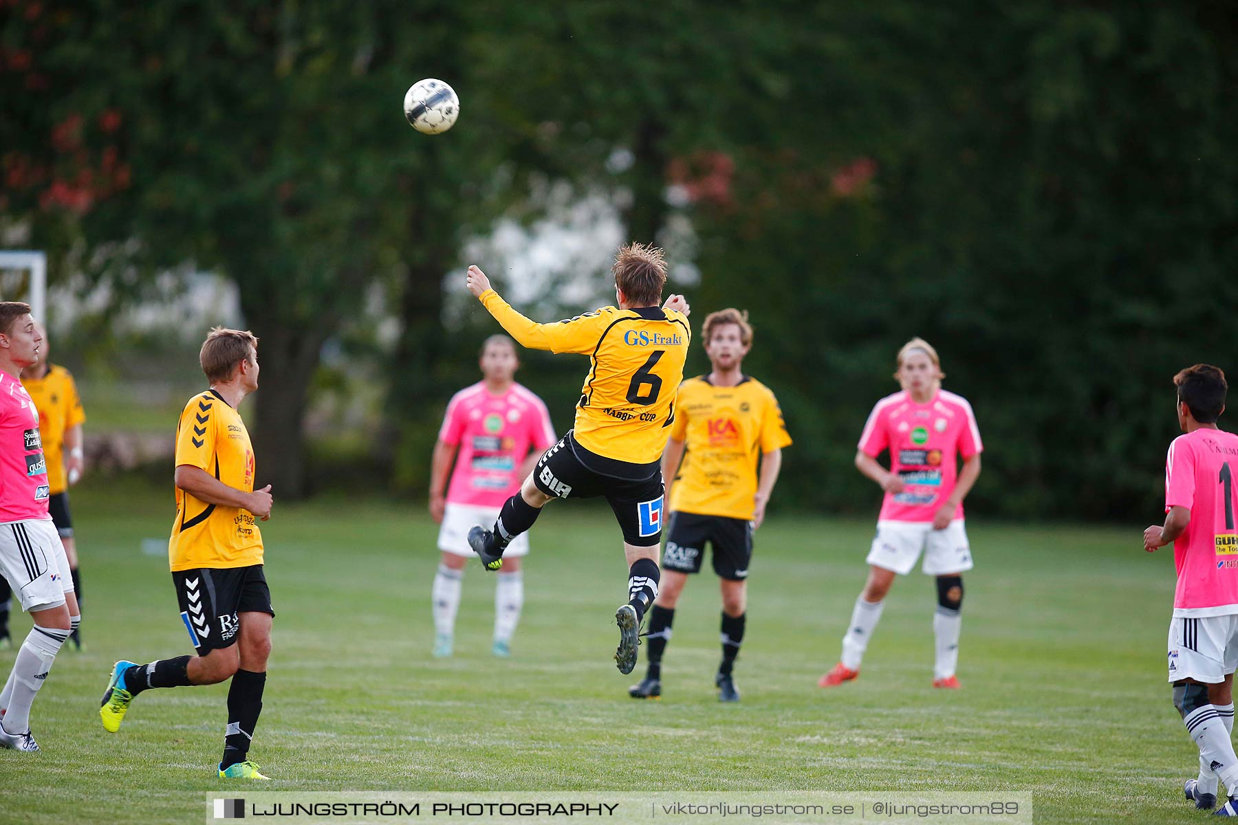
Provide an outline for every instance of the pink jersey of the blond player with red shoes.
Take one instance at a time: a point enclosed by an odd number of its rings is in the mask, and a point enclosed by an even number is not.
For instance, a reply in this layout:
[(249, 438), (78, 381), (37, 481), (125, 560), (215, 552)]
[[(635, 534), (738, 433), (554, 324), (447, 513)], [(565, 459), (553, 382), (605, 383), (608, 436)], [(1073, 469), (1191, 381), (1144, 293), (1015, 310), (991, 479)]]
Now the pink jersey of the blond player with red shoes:
[[(954, 492), (958, 458), (984, 449), (972, 404), (962, 396), (938, 390), (925, 404), (900, 391), (877, 402), (859, 437), (859, 449), (874, 459), (890, 450), (890, 472), (906, 484), (903, 492), (885, 494), (880, 521), (931, 522), (937, 508)], [(959, 502), (954, 518), (963, 517)]]

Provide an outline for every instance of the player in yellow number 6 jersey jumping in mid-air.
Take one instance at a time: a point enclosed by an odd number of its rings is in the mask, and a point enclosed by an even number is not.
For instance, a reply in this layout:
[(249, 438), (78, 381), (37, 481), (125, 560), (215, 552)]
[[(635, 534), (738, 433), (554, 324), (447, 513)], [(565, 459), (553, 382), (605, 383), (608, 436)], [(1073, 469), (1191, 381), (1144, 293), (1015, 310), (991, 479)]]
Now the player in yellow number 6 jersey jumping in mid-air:
[(659, 461), (675, 422), (675, 387), (683, 378), (692, 330), (683, 296), (659, 307), (666, 286), (662, 250), (624, 246), (612, 272), (618, 307), (537, 324), (508, 306), (482, 270), (468, 268), (468, 291), (522, 346), (589, 356), (573, 429), (546, 450), (520, 492), (503, 505), (494, 529), (474, 527), (468, 542), (487, 570), (498, 570), (503, 550), (534, 526), (547, 501), (605, 496), (623, 531), (629, 566), (628, 604), (615, 611), (615, 664), (631, 673), (640, 622), (661, 579)]

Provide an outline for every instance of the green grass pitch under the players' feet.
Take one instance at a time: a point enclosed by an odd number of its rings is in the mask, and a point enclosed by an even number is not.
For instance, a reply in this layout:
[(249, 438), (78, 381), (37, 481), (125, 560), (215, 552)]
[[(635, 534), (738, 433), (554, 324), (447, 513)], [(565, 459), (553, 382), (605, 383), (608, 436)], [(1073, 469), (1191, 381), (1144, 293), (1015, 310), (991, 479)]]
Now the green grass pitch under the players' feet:
[[(42, 753), (0, 751), (0, 820), (196, 821), (220, 789), (227, 685), (144, 694), (116, 735), (97, 715), (114, 659), (189, 652), (165, 559), (140, 550), (166, 536), (171, 490), (100, 485), (73, 503), (87, 651), (61, 653), (35, 704)], [(1018, 790), (1037, 821), (1196, 815), (1181, 798), (1196, 750), (1164, 677), (1171, 557), (1141, 552), (1143, 524), (974, 521), (962, 691), (930, 688), (935, 589), (919, 571), (891, 591), (860, 679), (818, 689), (872, 524), (775, 517), (758, 534), (743, 701), (723, 706), (712, 575), (681, 600), (662, 701), (628, 699), (644, 658), (633, 677), (610, 659), (626, 569), (604, 510), (558, 503), (539, 522), (511, 659), (489, 654), (494, 584), (470, 565), (457, 654), (437, 660), (420, 505), (277, 505), (251, 754), (271, 790)]]

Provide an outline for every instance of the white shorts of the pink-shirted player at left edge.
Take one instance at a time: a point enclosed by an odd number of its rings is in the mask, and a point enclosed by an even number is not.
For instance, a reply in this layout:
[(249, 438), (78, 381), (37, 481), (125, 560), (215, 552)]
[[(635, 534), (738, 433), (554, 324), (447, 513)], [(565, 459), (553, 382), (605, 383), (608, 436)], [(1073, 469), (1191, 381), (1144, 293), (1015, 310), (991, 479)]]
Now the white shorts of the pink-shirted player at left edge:
[(63, 605), (64, 594), (73, 592), (69, 560), (51, 518), (0, 524), (0, 573), (22, 610)]

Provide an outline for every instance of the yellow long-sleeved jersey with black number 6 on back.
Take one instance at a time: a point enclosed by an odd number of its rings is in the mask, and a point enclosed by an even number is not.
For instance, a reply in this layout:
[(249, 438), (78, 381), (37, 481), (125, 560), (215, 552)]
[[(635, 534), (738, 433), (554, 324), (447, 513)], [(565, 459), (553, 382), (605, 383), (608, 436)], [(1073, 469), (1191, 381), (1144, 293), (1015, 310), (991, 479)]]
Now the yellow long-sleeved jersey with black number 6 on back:
[(692, 340), (686, 315), (659, 307), (603, 307), (537, 324), (493, 289), (480, 301), (522, 346), (589, 356), (573, 429), (581, 447), (629, 464), (662, 456)]

